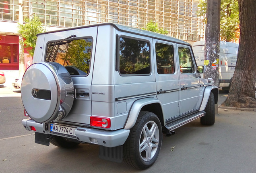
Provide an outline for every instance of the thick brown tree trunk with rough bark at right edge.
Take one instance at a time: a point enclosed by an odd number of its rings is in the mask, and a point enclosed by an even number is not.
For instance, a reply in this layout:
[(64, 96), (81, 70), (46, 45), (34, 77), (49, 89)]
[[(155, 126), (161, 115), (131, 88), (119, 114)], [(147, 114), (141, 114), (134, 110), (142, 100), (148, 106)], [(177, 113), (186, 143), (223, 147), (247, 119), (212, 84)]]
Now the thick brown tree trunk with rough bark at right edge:
[(221, 106), (256, 108), (256, 0), (238, 0), (240, 40), (235, 72)]

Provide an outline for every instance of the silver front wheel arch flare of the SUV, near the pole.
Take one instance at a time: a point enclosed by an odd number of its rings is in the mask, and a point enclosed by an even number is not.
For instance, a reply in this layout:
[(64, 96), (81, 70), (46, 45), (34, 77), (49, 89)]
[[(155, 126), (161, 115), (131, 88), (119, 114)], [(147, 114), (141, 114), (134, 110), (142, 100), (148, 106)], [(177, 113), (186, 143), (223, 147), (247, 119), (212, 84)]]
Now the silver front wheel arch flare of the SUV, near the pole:
[(218, 103), (218, 95), (219, 95), (219, 90), (218, 87), (216, 86), (208, 86), (204, 89), (204, 97), (202, 99), (202, 104), (200, 107), (199, 111), (204, 111), (206, 104), (208, 102), (208, 99), (210, 97), (211, 92), (214, 95), (214, 103), (217, 104)]

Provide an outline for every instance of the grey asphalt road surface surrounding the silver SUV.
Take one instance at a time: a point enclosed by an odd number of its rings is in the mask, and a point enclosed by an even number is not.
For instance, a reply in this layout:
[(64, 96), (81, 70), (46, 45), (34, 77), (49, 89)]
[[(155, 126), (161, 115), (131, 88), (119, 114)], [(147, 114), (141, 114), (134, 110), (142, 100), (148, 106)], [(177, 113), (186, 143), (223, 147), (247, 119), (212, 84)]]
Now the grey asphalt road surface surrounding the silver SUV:
[[(3, 89), (3, 88), (2, 88)], [(5, 89), (7, 91), (7, 89)], [(101, 160), (97, 145), (76, 149), (34, 143), (33, 132), (21, 125), (20, 93), (0, 88), (0, 173), (255, 173), (256, 112), (219, 109), (215, 125), (195, 120), (163, 137), (156, 163), (136, 170), (124, 163)], [(219, 104), (226, 93), (219, 95)]]

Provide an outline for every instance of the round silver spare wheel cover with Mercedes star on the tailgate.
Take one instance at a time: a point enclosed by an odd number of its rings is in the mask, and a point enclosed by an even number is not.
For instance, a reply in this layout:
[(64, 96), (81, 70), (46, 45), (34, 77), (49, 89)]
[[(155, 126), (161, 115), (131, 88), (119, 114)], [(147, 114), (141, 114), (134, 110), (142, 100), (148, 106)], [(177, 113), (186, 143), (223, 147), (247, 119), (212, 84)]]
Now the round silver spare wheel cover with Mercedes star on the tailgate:
[(49, 123), (63, 119), (74, 101), (71, 76), (56, 62), (34, 63), (23, 76), (21, 99), (34, 121)]

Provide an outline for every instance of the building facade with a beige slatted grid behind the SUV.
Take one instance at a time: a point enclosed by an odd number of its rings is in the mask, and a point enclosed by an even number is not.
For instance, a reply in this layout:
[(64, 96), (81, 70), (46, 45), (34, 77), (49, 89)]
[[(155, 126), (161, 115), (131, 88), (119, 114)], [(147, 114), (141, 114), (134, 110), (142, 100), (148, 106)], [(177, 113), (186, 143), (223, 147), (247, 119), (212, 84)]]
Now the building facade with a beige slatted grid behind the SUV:
[[(145, 28), (150, 21), (187, 41), (202, 40), (199, 0), (23, 0), (23, 18), (37, 15), (43, 24), (72, 27), (112, 22)], [(31, 5), (30, 5), (31, 4)], [(19, 0), (0, 0), (0, 20), (18, 22)], [(1, 32), (1, 31), (0, 31)]]

